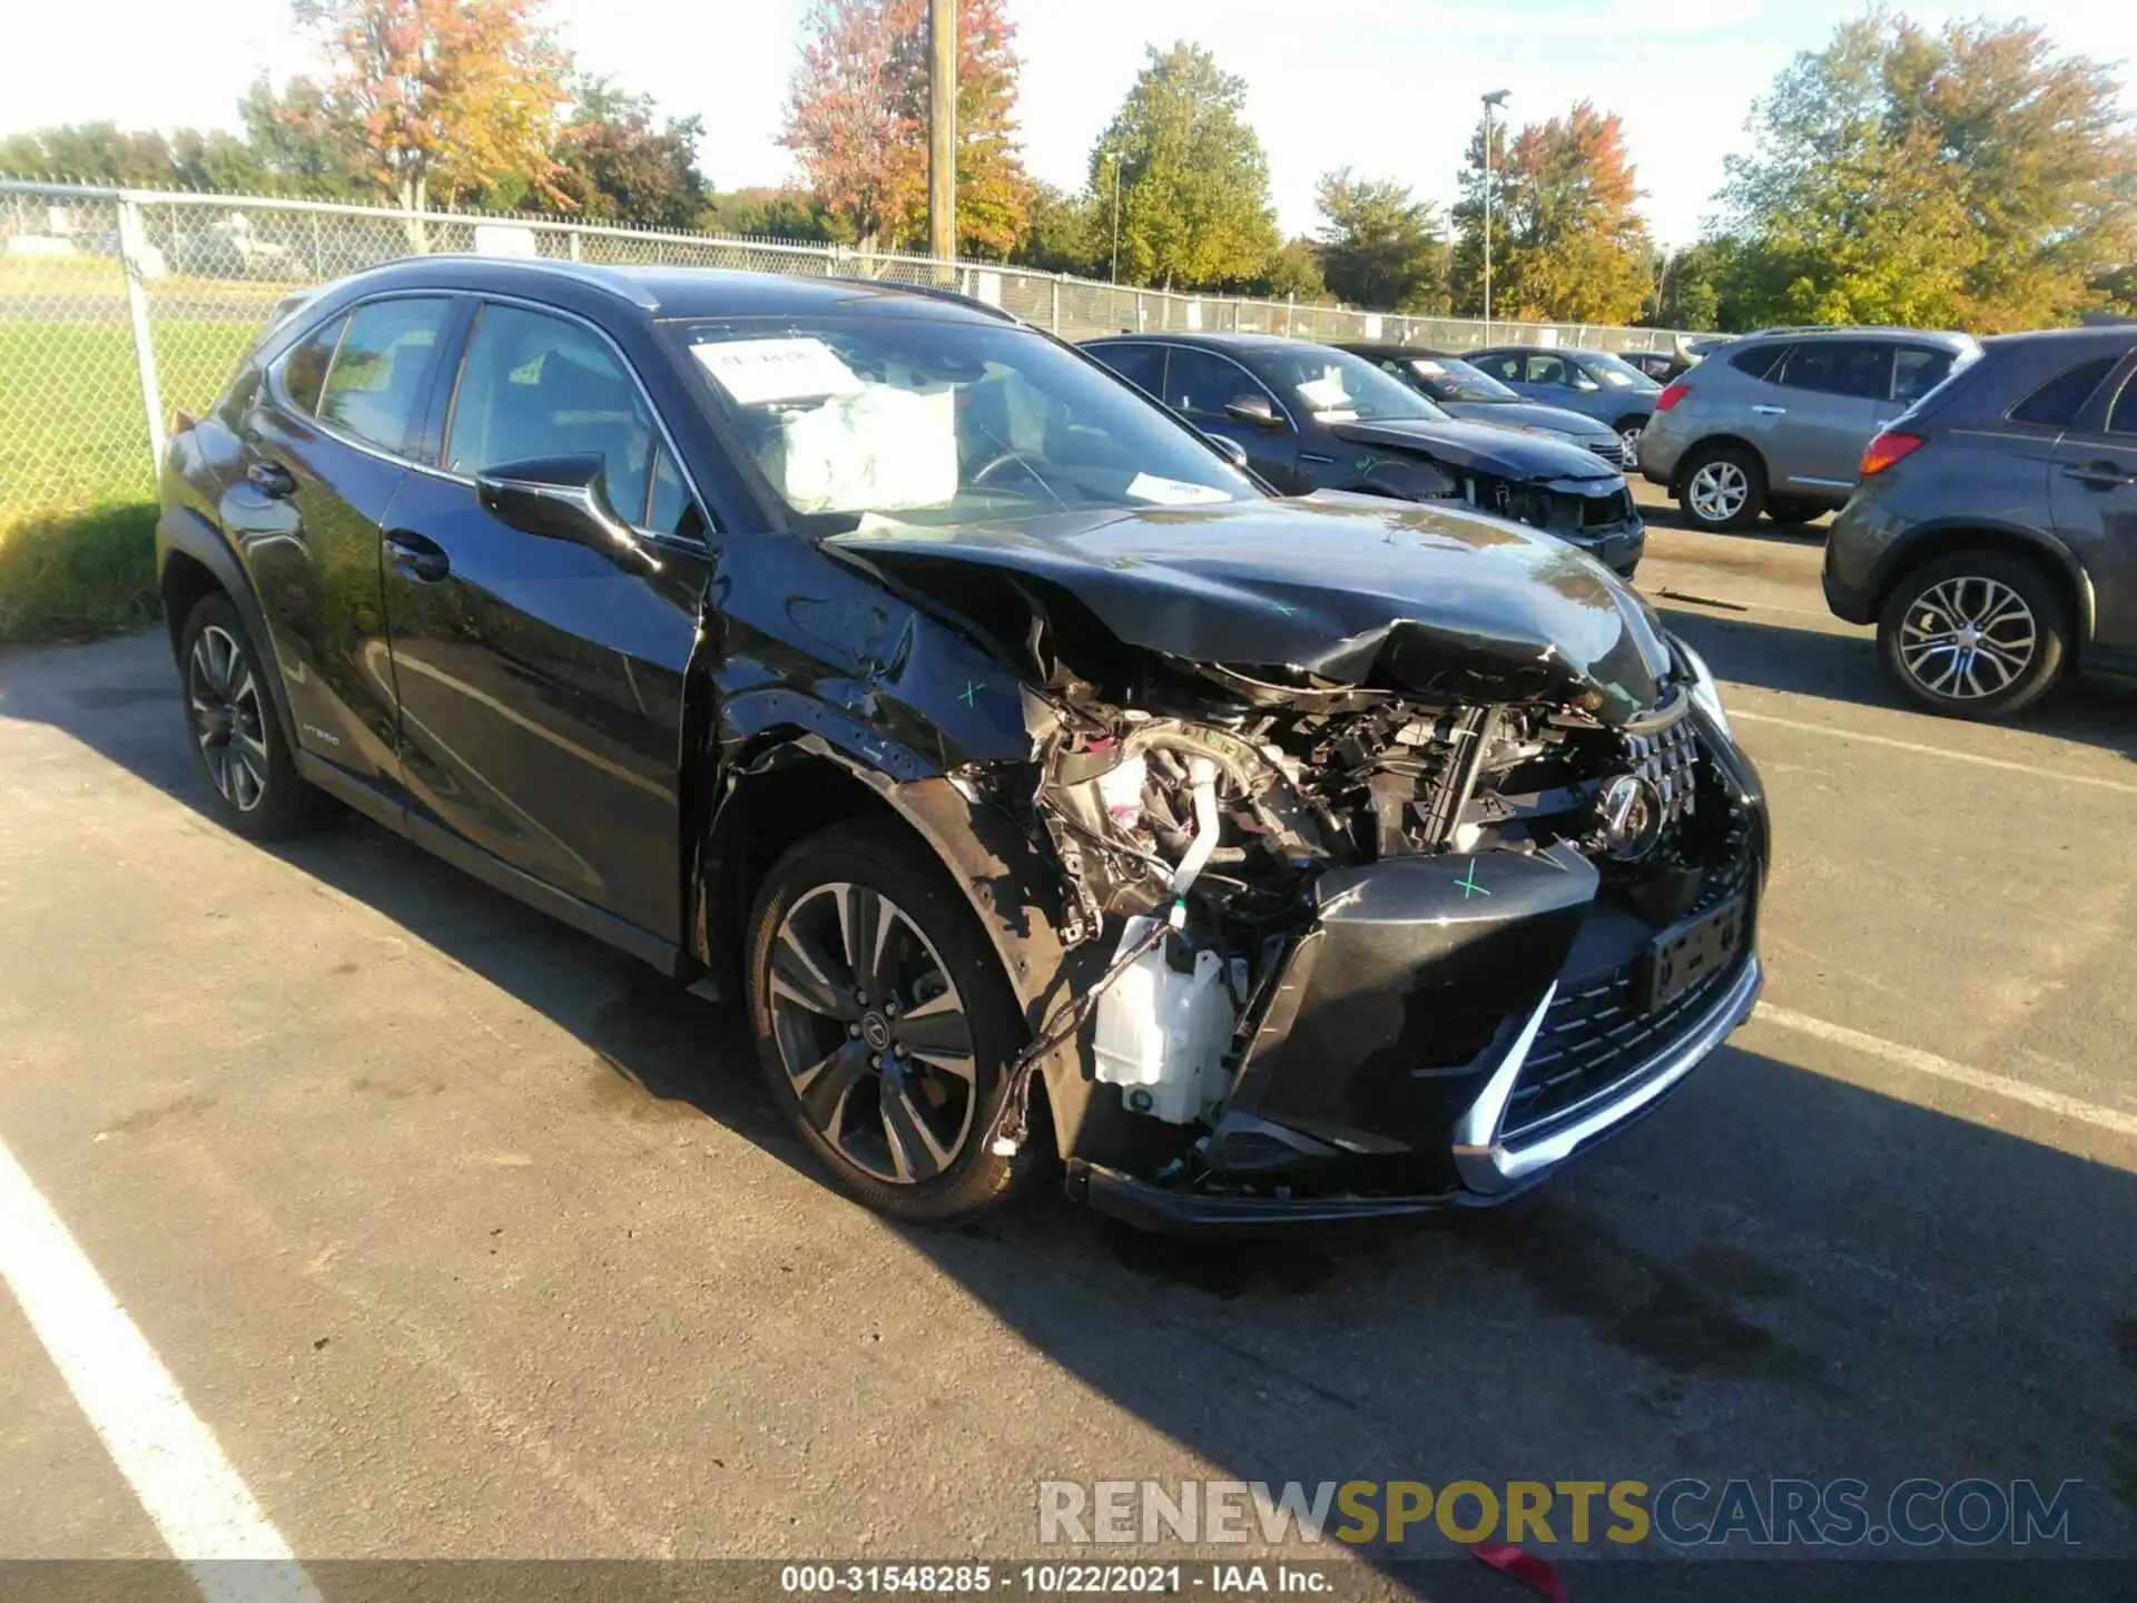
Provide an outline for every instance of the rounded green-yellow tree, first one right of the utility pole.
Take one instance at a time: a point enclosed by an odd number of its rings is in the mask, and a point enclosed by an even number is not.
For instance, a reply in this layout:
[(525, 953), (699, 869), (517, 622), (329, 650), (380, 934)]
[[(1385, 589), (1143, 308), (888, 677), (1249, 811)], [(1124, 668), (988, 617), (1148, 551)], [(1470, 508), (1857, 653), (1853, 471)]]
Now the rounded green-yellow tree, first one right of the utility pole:
[(1098, 137), (1090, 192), (1107, 222), (1113, 160), (1124, 282), (1227, 284), (1252, 278), (1276, 254), (1269, 160), (1246, 122), (1246, 83), (1199, 45), (1152, 47)]

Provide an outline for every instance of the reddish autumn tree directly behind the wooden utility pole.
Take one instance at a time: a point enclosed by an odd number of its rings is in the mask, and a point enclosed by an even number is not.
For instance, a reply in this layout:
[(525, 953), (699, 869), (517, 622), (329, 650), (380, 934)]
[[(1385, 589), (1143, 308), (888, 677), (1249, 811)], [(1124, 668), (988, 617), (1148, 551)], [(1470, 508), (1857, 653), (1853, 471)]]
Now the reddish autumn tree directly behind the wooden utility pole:
[[(863, 246), (927, 233), (927, 0), (814, 0), (784, 143)], [(1015, 26), (1002, 0), (957, 0), (957, 248), (1007, 256), (1030, 180), (1017, 152)]]

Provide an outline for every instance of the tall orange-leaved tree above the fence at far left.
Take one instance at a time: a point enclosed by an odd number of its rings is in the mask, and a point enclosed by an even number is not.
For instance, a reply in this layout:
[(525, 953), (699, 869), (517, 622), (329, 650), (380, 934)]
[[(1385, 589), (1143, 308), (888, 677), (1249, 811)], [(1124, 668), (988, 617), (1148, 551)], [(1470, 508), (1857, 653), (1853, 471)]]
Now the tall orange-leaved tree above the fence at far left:
[(323, 115), (404, 207), (500, 184), (560, 199), (566, 56), (541, 0), (295, 0), (325, 47)]

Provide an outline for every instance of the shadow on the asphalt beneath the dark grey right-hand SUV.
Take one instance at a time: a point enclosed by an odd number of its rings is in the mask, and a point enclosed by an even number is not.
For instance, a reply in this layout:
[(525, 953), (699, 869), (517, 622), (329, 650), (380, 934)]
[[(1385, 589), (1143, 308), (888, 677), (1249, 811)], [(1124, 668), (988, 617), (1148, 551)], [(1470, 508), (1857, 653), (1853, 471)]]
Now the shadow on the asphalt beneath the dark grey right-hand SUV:
[[(1791, 690), (1857, 707), (1906, 712), (1921, 731), (1915, 740), (1938, 744), (1964, 727), (1917, 710), (1885, 675), (1868, 633), (1834, 635), (1816, 628), (1754, 622), (1705, 607), (1665, 605), (1665, 622), (1684, 635), (1707, 665), (1733, 684)], [(2062, 684), (2047, 701), (2022, 712), (2011, 729), (2084, 742), (2137, 761), (2137, 682), (2084, 675)]]

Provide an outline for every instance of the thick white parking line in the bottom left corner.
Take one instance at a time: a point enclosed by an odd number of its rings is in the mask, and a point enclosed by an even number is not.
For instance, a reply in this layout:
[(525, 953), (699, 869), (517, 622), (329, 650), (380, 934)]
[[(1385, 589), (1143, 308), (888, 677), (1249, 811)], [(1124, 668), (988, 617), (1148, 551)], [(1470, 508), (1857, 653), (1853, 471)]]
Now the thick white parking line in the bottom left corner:
[(282, 1532), (4, 1143), (0, 1278), (201, 1597), (318, 1603)]

